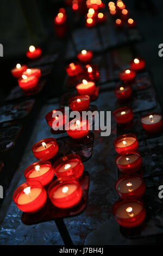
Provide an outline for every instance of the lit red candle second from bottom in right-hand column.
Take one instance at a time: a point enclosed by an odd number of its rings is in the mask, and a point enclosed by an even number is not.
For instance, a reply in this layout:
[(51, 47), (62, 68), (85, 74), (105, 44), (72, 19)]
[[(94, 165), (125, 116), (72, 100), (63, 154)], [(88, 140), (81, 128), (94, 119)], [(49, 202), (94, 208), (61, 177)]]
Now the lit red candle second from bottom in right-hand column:
[(117, 180), (115, 189), (122, 199), (140, 198), (146, 190), (145, 182), (139, 175), (125, 175)]

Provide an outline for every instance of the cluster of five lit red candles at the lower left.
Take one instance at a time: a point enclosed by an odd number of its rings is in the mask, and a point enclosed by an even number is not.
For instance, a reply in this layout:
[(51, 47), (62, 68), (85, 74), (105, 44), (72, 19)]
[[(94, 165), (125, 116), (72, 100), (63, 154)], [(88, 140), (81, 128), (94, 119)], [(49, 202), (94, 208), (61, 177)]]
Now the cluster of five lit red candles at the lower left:
[[(42, 159), (43, 151), (52, 153), (52, 149), (49, 150), (51, 147), (54, 148), (54, 144), (49, 141), (33, 150), (37, 152), (36, 156)], [(53, 150), (53, 154), (56, 152), (57, 148)], [(33, 213), (40, 210), (46, 203), (47, 195), (54, 206), (62, 209), (74, 207), (80, 202), (82, 187), (79, 178), (84, 170), (80, 156), (66, 155), (58, 159), (53, 166), (47, 161), (48, 157), (49, 155), (45, 154), (43, 159), (46, 160), (35, 162), (24, 170), (26, 182), (16, 189), (13, 196), (21, 211)], [(57, 179), (52, 181), (54, 174)]]

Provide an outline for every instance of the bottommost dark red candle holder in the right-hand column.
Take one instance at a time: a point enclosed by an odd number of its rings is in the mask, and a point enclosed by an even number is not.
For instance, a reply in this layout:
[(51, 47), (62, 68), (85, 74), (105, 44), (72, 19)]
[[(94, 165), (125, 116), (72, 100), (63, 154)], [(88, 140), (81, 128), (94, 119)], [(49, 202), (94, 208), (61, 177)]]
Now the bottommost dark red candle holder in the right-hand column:
[(112, 207), (112, 213), (118, 224), (125, 228), (134, 228), (145, 220), (146, 210), (139, 199), (120, 199)]

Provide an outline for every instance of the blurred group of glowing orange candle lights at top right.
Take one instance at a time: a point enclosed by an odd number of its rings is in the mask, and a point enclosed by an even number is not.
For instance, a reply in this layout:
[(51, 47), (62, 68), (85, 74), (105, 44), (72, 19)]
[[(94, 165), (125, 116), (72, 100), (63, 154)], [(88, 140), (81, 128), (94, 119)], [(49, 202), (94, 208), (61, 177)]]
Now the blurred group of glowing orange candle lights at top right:
[(115, 17), (115, 26), (117, 28), (123, 27), (127, 23), (128, 28), (135, 28), (136, 22), (130, 18), (129, 10), (126, 9), (126, 5), (123, 1), (118, 0), (116, 4), (114, 2), (108, 3), (110, 15)]

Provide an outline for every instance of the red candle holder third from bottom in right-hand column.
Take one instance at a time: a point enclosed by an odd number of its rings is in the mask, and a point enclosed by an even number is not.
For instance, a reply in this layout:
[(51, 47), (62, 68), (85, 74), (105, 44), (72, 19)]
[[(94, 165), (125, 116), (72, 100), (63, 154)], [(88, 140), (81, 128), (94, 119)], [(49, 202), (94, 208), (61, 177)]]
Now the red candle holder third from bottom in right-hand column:
[(115, 162), (118, 170), (124, 174), (138, 172), (142, 166), (141, 155), (132, 150), (118, 154), (115, 158)]

